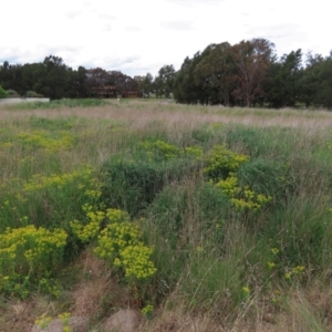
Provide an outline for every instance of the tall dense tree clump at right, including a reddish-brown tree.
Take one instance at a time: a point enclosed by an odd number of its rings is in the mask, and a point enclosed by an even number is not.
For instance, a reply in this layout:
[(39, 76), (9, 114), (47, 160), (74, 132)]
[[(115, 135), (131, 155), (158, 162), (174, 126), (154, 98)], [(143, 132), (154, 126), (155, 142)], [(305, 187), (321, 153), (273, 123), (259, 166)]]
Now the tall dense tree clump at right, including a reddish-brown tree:
[(332, 52), (304, 58), (297, 50), (278, 59), (266, 39), (210, 44), (185, 59), (172, 85), (187, 104), (331, 108)]

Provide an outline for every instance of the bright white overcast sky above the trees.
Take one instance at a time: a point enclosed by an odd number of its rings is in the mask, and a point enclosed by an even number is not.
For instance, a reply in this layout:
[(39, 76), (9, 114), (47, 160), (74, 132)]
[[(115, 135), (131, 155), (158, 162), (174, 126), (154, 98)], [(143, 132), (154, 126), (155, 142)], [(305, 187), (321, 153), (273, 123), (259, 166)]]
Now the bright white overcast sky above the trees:
[(178, 70), (210, 43), (266, 38), (278, 55), (329, 55), (328, 0), (15, 0), (0, 6), (0, 64), (61, 56), (134, 76)]

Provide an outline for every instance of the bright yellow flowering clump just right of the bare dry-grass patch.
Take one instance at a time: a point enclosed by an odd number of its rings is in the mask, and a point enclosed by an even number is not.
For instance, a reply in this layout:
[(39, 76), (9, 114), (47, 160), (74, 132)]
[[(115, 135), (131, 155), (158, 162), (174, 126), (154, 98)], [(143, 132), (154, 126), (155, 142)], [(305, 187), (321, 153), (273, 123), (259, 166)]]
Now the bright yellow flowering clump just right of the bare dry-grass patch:
[(137, 224), (131, 221), (129, 215), (120, 209), (95, 210), (96, 207), (84, 205), (86, 222), (70, 222), (74, 236), (82, 242), (96, 240), (94, 252), (124, 272), (129, 282), (153, 277), (156, 268), (149, 257), (153, 249), (142, 241)]

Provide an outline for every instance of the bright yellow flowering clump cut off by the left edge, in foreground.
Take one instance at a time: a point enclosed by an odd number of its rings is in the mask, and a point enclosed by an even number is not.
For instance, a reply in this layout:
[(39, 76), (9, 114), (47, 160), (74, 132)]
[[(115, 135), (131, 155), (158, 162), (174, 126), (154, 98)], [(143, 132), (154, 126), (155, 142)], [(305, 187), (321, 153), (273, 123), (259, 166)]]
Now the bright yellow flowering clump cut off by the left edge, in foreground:
[(25, 298), (31, 283), (48, 278), (62, 263), (66, 240), (62, 229), (7, 228), (0, 235), (0, 292)]

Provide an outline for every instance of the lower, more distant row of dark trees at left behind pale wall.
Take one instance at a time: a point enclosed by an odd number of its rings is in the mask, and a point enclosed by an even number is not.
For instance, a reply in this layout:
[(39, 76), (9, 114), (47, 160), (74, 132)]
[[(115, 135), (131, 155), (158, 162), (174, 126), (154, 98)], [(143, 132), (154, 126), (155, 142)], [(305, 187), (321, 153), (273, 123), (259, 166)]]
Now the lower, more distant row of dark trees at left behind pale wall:
[(0, 86), (21, 96), (46, 96), (51, 100), (64, 97), (84, 98), (96, 96), (96, 89), (114, 86), (118, 94), (128, 90), (138, 91), (138, 82), (120, 71), (101, 68), (73, 70), (62, 58), (49, 55), (40, 63), (9, 64), (0, 66)]

